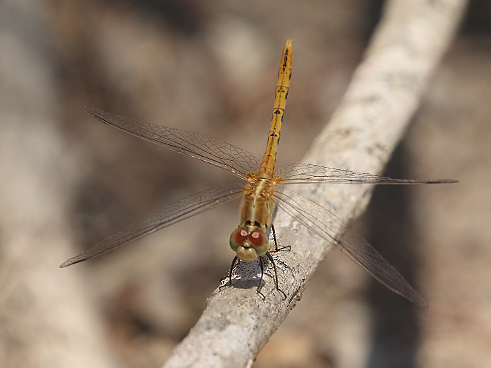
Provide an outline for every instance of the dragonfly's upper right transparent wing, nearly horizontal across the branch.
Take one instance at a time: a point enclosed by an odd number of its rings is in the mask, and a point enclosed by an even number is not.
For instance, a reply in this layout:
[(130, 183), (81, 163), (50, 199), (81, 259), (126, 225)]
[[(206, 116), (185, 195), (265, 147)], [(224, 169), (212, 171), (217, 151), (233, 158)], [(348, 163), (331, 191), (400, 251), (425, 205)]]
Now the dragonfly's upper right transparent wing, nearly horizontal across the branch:
[(283, 180), (278, 184), (337, 183), (337, 184), (441, 184), (456, 183), (452, 179), (392, 179), (368, 173), (356, 173), (340, 168), (313, 164), (289, 164), (278, 170)]

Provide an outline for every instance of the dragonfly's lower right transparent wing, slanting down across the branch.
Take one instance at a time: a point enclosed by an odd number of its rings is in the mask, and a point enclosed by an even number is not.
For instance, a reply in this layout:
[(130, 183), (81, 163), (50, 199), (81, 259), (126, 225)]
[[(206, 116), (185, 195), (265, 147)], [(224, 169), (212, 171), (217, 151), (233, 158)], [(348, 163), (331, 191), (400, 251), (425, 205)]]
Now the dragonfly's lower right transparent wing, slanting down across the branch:
[(385, 287), (422, 307), (426, 300), (403, 276), (387, 262), (373, 246), (350, 229), (339, 217), (299, 193), (282, 188), (273, 194), (273, 201), (295, 220), (314, 231), (320, 238), (334, 244), (361, 268)]

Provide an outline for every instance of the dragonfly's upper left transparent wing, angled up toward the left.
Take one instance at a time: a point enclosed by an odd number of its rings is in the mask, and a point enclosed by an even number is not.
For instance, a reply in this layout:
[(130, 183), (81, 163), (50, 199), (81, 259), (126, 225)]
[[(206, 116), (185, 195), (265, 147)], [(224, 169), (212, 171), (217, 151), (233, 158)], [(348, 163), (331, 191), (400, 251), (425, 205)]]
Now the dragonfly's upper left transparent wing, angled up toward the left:
[(86, 108), (86, 112), (101, 122), (124, 130), (126, 133), (208, 162), (242, 177), (242, 179), (245, 179), (248, 172), (256, 173), (261, 164), (259, 159), (251, 153), (209, 135), (158, 126), (131, 117), (107, 113), (96, 108)]

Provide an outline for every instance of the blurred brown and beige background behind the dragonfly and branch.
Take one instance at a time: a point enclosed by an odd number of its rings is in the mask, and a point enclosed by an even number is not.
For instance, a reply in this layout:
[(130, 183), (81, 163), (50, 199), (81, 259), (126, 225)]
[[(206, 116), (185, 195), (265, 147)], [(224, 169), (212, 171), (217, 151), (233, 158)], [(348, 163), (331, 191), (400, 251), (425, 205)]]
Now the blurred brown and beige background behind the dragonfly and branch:
[[(235, 202), (58, 268), (151, 211), (234, 180), (84, 107), (262, 157), (291, 38), (278, 161), (298, 162), (343, 96), (383, 3), (2, 1), (0, 367), (159, 367), (233, 258)], [(491, 1), (470, 1), (385, 173), (460, 184), (378, 188), (354, 224), (430, 308), (333, 251), (254, 367), (491, 365), (490, 85)]]

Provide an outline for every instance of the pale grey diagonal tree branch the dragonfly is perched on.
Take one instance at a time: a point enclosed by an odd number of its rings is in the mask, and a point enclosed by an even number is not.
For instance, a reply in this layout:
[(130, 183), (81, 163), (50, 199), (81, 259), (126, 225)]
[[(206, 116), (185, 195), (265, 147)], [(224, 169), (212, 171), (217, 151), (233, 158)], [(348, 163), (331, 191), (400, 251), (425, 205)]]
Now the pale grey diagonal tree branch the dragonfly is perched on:
[[(464, 0), (389, 1), (365, 59), (354, 73), (338, 110), (302, 160), (312, 164), (381, 173), (421, 99), (423, 87), (450, 44)], [(372, 186), (309, 184), (293, 190), (316, 197), (344, 220), (359, 215)], [(327, 203), (326, 199), (329, 199)], [(275, 254), (256, 293), (258, 264), (241, 264), (233, 287), (216, 290), (189, 335), (165, 367), (249, 367), (300, 298), (307, 280), (331, 246), (285, 213), (274, 220), (290, 252)], [(270, 265), (271, 266), (271, 265)]]

